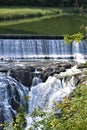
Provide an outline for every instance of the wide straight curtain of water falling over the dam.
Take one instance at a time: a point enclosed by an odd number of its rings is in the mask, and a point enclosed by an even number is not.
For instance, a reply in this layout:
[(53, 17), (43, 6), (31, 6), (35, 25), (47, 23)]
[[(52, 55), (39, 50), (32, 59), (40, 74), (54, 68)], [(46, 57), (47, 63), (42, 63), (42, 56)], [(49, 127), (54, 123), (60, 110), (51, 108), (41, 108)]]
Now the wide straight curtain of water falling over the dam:
[(2, 59), (76, 59), (76, 53), (87, 59), (87, 41), (70, 46), (64, 40), (0, 39)]

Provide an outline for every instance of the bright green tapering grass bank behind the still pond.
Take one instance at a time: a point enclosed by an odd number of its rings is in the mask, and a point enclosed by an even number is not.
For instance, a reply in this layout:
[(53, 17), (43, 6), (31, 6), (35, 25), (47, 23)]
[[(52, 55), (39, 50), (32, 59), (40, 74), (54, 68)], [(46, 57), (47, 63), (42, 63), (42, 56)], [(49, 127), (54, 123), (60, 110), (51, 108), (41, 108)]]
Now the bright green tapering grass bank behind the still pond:
[(8, 7), (0, 8), (0, 21), (49, 16), (61, 13), (57, 8)]

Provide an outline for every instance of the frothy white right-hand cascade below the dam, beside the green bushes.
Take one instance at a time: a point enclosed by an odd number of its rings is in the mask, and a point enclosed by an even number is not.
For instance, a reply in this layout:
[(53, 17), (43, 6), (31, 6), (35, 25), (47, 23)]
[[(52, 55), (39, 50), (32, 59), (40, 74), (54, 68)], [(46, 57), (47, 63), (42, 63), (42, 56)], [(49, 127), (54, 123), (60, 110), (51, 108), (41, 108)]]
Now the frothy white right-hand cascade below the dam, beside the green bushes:
[[(46, 110), (55, 107), (54, 104), (62, 101), (65, 96), (68, 96), (75, 89), (77, 81), (74, 75), (78, 73), (81, 73), (81, 71), (73, 67), (66, 72), (48, 77), (44, 83), (31, 87), (29, 92), (29, 113), (32, 113), (34, 108), (37, 107)], [(26, 119), (27, 124), (31, 126), (32, 118), (26, 117)], [(30, 127), (28, 125), (25, 130)]]

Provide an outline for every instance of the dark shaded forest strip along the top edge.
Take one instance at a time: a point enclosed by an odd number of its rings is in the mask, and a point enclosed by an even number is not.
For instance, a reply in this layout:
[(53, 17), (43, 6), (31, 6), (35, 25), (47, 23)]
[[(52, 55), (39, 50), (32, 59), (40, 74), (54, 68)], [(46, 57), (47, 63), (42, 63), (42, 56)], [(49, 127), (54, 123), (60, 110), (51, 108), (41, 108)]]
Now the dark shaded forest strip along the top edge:
[(0, 0), (0, 6), (72, 7), (76, 4), (87, 7), (87, 0)]

